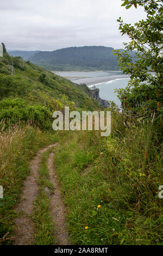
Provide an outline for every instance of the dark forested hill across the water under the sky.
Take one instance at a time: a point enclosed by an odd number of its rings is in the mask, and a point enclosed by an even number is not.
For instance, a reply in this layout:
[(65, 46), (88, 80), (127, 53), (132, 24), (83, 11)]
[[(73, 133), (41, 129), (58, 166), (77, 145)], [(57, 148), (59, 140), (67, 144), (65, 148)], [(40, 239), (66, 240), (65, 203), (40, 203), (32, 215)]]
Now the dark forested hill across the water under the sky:
[(68, 47), (36, 53), (29, 60), (49, 70), (118, 70), (113, 50), (104, 46)]

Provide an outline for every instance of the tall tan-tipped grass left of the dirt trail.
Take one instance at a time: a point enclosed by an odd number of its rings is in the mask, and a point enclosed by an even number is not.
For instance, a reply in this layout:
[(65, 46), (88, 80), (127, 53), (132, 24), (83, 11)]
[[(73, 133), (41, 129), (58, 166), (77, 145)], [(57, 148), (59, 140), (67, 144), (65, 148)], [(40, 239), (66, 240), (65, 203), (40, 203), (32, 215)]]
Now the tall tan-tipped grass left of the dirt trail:
[[(3, 199), (0, 199), (0, 242), (11, 243), (12, 225), (22, 191), (23, 180), (29, 173), (29, 160), (40, 147), (52, 141), (52, 136), (31, 126), (10, 127), (0, 131), (0, 185), (3, 186)], [(5, 239), (2, 237), (5, 236)]]

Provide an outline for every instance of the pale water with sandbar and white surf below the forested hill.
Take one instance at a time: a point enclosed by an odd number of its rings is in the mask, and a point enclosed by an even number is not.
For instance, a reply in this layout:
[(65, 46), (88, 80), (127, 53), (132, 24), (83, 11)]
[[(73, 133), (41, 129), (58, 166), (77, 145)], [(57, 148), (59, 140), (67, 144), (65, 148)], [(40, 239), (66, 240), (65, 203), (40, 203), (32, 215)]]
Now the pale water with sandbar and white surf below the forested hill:
[(56, 71), (55, 74), (69, 79), (74, 83), (85, 83), (90, 89), (95, 86), (99, 88), (101, 99), (114, 101), (119, 107), (121, 102), (115, 93), (117, 88), (126, 88), (129, 77), (123, 75), (122, 71)]

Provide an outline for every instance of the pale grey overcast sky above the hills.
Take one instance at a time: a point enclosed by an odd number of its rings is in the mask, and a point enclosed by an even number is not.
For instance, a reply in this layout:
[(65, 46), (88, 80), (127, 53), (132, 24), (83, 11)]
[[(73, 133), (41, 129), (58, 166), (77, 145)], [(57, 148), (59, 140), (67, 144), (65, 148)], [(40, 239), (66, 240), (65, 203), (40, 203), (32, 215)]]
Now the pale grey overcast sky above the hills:
[(143, 9), (126, 10), (121, 0), (1, 0), (1, 42), (8, 50), (43, 50), (84, 45), (122, 48), (118, 31), (145, 18)]

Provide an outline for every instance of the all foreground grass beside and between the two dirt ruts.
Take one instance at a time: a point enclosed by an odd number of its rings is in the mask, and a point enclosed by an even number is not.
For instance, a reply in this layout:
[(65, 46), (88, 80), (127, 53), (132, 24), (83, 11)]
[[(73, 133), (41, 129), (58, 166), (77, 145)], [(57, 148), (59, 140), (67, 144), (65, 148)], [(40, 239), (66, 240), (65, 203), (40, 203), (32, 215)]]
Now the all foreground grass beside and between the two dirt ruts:
[[(29, 173), (29, 160), (40, 147), (58, 142), (55, 172), (66, 204), (71, 245), (163, 244), (163, 201), (158, 197), (163, 182), (162, 145), (154, 119), (148, 123), (128, 119), (126, 125), (124, 116), (112, 112), (112, 133), (106, 138), (97, 131), (49, 133), (29, 125), (0, 135), (4, 187), (0, 237), (7, 234), (0, 243), (9, 245), (14, 240), (14, 208)], [(43, 157), (45, 166), (47, 157)], [(44, 191), (45, 187), (52, 190), (52, 185), (45, 175), (44, 181), (38, 181), (42, 196), (33, 213), (36, 245), (54, 244), (55, 228)]]

